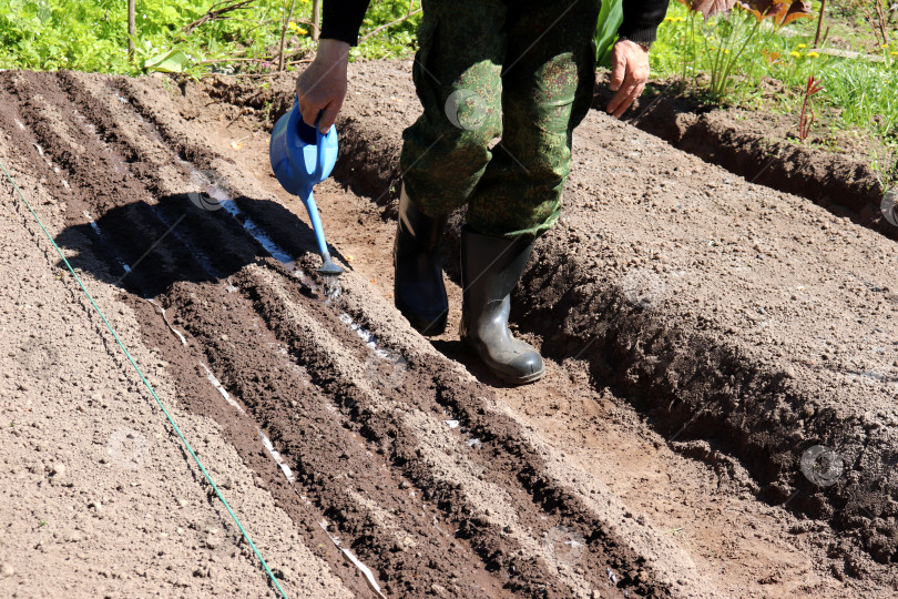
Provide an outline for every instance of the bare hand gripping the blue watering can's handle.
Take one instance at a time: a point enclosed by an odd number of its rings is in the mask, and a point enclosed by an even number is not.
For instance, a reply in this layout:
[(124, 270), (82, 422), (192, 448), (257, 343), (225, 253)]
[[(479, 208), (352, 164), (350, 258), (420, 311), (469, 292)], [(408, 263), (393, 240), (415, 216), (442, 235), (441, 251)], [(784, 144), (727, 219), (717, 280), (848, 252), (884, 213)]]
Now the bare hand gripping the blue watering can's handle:
[(315, 60), (296, 80), (296, 98), (306, 124), (315, 126), (318, 114), (322, 133), (330, 131), (346, 99), (346, 71), (349, 44), (339, 40), (320, 40)]

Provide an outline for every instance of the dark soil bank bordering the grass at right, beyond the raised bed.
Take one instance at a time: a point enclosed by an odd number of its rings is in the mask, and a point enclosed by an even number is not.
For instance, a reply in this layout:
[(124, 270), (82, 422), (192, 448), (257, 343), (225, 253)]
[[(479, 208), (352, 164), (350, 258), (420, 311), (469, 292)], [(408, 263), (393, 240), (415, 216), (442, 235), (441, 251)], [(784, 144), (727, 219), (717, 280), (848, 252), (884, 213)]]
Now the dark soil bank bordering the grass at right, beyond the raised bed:
[[(606, 105), (612, 95), (604, 80), (600, 78), (596, 85), (595, 109)], [(797, 143), (792, 139), (794, 116), (736, 108), (712, 110), (677, 97), (675, 88), (676, 83), (655, 82), (655, 94), (646, 93), (626, 121), (746, 181), (805, 197), (836, 216), (898, 238), (898, 227), (884, 216), (885, 191), (869, 167), (875, 140), (844, 135), (831, 141), (812, 134), (806, 143)], [(817, 146), (830, 142), (841, 151)]]

